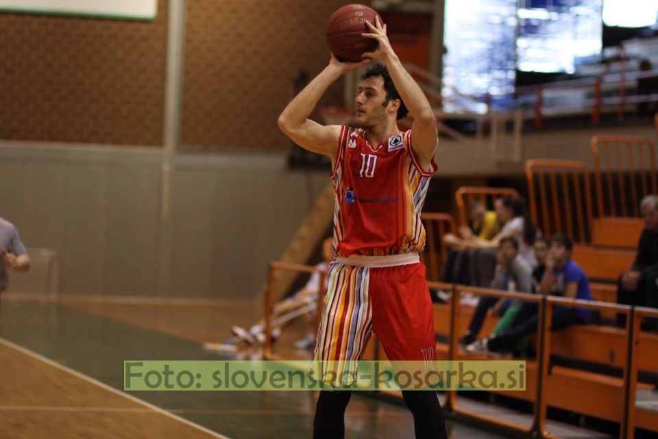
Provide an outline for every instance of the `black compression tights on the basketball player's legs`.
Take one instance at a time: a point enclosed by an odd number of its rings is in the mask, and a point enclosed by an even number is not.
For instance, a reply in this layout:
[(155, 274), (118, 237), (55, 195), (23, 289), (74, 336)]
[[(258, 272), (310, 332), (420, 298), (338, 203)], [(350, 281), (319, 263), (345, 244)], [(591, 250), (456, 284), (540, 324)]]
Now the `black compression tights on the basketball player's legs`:
[[(345, 437), (345, 407), (352, 392), (322, 391), (315, 407), (313, 439), (342, 439)], [(416, 439), (446, 439), (446, 420), (436, 392), (402, 392), (404, 402), (413, 414)]]

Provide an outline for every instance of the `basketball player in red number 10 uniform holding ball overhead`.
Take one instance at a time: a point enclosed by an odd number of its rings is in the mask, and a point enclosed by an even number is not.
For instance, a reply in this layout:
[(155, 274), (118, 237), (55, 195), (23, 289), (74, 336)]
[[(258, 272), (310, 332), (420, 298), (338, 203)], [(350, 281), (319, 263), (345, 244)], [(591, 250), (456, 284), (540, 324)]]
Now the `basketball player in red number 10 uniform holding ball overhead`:
[[(328, 292), (317, 335), (317, 360), (358, 360), (371, 331), (392, 361), (434, 359), (435, 333), (425, 266), (420, 212), (437, 170), (437, 121), (428, 100), (404, 70), (386, 35), (369, 24), (378, 49), (357, 63), (332, 56), (284, 109), (281, 130), (306, 150), (331, 158), (335, 194)], [(371, 66), (358, 85), (354, 127), (321, 126), (308, 119), (320, 97), (341, 75)], [(409, 108), (409, 110), (407, 110)], [(411, 130), (397, 121), (411, 112)], [(402, 392), (417, 438), (446, 438), (435, 392)], [(348, 391), (320, 392), (314, 438), (343, 438)]]

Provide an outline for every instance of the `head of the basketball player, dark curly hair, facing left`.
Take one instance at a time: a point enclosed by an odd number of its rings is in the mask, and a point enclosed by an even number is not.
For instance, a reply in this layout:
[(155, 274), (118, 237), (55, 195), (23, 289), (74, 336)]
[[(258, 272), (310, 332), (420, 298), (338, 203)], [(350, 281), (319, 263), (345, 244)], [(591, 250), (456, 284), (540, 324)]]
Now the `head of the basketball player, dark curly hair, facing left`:
[(385, 123), (389, 117), (400, 120), (409, 113), (383, 64), (373, 64), (361, 75), (356, 89), (356, 123), (368, 128)]

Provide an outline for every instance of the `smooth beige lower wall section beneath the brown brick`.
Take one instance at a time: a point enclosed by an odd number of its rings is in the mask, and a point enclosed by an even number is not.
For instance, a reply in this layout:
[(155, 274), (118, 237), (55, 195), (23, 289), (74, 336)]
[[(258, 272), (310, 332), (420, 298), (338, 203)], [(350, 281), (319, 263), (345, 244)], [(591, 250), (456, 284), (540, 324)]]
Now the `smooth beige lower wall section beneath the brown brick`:
[(2, 142), (0, 216), (26, 246), (58, 250), (62, 294), (252, 298), (328, 182), (263, 153), (176, 169), (164, 267), (158, 150)]

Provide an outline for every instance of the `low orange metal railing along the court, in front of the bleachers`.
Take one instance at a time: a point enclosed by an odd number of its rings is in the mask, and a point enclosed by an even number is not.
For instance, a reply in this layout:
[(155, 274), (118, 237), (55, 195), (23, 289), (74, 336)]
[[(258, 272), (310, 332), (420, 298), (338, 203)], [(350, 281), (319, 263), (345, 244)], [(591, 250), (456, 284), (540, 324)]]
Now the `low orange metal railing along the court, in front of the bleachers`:
[[(321, 307), (324, 305), (324, 290), (326, 289), (326, 277), (323, 276), (324, 271), (318, 270), (317, 268), (310, 267), (308, 265), (299, 265), (293, 263), (280, 263), (272, 262), (270, 264), (269, 270), (269, 288), (265, 306), (265, 318), (266, 318), (266, 342), (265, 342), (265, 358), (274, 359), (276, 358), (273, 355), (271, 350), (271, 311), (272, 311), (272, 294), (271, 289), (273, 283), (276, 281), (276, 272), (278, 270), (293, 270), (300, 273), (314, 273), (320, 272), (321, 285), (324, 285), (320, 289), (319, 300), (318, 300), (318, 319), (321, 316)], [(626, 316), (626, 326), (623, 329), (618, 329), (617, 331), (622, 332), (621, 335), (624, 337), (624, 358), (626, 361), (622, 361), (622, 377), (621, 388), (620, 390), (614, 390), (613, 394), (616, 395), (616, 401), (600, 401), (601, 403), (607, 405), (608, 407), (614, 405), (615, 410), (618, 407), (618, 412), (615, 411), (609, 418), (620, 424), (620, 438), (633, 439), (635, 434), (636, 427), (644, 427), (652, 429), (652, 431), (657, 431), (653, 429), (653, 426), (658, 426), (658, 412), (648, 411), (642, 409), (642, 407), (636, 407), (635, 399), (637, 394), (638, 387), (638, 372), (639, 372), (639, 359), (640, 355), (653, 355), (653, 352), (642, 351), (644, 347), (644, 341), (647, 340), (647, 337), (654, 337), (657, 340), (654, 340), (655, 343), (658, 343), (658, 334), (646, 333), (641, 331), (641, 323), (644, 318), (655, 318), (658, 319), (658, 310), (649, 309), (642, 307), (630, 307), (628, 305), (616, 305), (605, 302), (595, 302), (587, 300), (577, 300), (569, 298), (561, 298), (557, 296), (541, 296), (537, 294), (523, 294), (523, 293), (513, 293), (505, 292), (496, 289), (485, 289), (464, 285), (450, 285), (447, 283), (439, 283), (428, 281), (428, 286), (430, 288), (443, 289), (446, 291), (452, 292), (450, 298), (450, 322), (448, 322), (449, 328), (449, 339), (448, 339), (448, 359), (452, 361), (458, 361), (463, 359), (480, 359), (481, 356), (476, 354), (465, 353), (460, 350), (458, 346), (459, 335), (461, 335), (460, 319), (463, 307), (461, 307), (461, 296), (462, 294), (468, 292), (476, 296), (493, 296), (498, 298), (510, 298), (513, 300), (520, 300), (523, 302), (533, 302), (537, 305), (537, 333), (535, 335), (535, 342), (537, 347), (537, 360), (535, 363), (535, 368), (533, 368), (533, 379), (531, 381), (531, 386), (528, 388), (526, 385), (526, 397), (525, 399), (533, 403), (533, 416), (531, 425), (520, 425), (513, 423), (507, 420), (501, 420), (500, 418), (487, 416), (480, 412), (474, 412), (472, 410), (467, 410), (460, 406), (457, 399), (457, 391), (449, 390), (447, 392), (446, 403), (444, 404), (444, 410), (450, 414), (454, 414), (461, 418), (470, 418), (471, 420), (476, 420), (478, 423), (488, 424), (490, 426), (496, 426), (498, 428), (503, 428), (507, 431), (514, 432), (515, 434), (522, 434), (528, 437), (539, 437), (539, 438), (551, 438), (557, 439), (557, 437), (551, 433), (547, 425), (547, 410), (548, 406), (557, 406), (556, 401), (553, 401), (550, 396), (550, 386), (557, 385), (553, 383), (553, 374), (550, 370), (550, 359), (551, 359), (551, 340), (552, 340), (552, 313), (555, 307), (561, 308), (581, 308), (581, 309), (590, 309), (595, 311), (609, 311), (613, 313), (621, 313)], [(588, 327), (591, 325), (587, 325)], [(374, 341), (376, 341), (373, 338)], [(379, 354), (376, 354), (376, 358), (379, 357)], [(583, 379), (583, 377), (578, 376), (578, 370), (574, 370), (576, 373), (573, 375), (572, 379), (578, 380)], [(590, 372), (585, 372), (586, 374), (591, 375)], [(531, 374), (531, 370), (526, 368), (526, 380)], [(605, 377), (605, 375), (601, 375)], [(528, 381), (526, 381), (528, 382)], [(619, 381), (616, 381), (617, 383)], [(592, 381), (591, 385), (598, 385), (597, 381)], [(645, 386), (646, 387), (646, 386)], [(496, 392), (502, 392), (501, 390), (496, 390)], [(509, 396), (514, 396), (510, 394)], [(590, 396), (591, 399), (592, 396)], [(591, 401), (587, 401), (586, 398), (580, 398), (578, 395), (574, 395), (573, 399), (570, 400), (572, 405), (582, 407), (581, 410), (587, 412), (590, 409), (589, 404)], [(609, 410), (609, 409), (608, 409)], [(574, 411), (578, 412), (578, 408)], [(637, 419), (642, 419), (642, 424), (637, 423)], [(646, 425), (650, 424), (650, 425)], [(656, 427), (658, 429), (658, 427)]]

